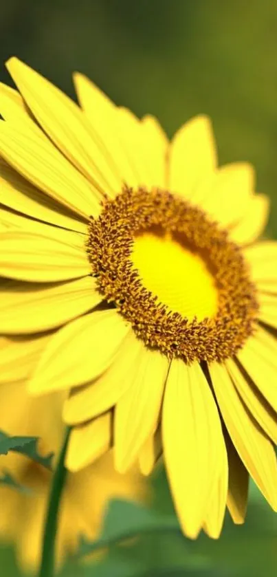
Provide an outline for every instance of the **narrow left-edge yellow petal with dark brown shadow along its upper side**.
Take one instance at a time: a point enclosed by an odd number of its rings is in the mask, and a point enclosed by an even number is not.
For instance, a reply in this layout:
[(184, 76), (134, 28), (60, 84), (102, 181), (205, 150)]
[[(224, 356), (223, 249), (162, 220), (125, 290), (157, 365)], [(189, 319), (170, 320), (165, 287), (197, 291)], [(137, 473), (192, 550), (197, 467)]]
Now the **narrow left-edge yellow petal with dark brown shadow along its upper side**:
[(0, 159), (0, 202), (34, 219), (69, 230), (87, 232), (85, 222), (77, 220), (65, 206), (27, 182), (3, 159)]

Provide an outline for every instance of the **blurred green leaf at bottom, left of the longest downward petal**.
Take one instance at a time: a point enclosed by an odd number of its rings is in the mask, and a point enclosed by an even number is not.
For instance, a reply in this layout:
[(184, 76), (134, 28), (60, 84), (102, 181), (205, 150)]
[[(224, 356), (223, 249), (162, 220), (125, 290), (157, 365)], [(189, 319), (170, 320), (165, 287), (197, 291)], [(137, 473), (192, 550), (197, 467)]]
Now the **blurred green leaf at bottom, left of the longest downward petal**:
[(93, 543), (82, 539), (78, 554), (85, 556), (97, 549), (111, 547), (126, 539), (149, 532), (181, 534), (175, 516), (158, 514), (132, 501), (114, 499), (109, 503), (102, 535)]

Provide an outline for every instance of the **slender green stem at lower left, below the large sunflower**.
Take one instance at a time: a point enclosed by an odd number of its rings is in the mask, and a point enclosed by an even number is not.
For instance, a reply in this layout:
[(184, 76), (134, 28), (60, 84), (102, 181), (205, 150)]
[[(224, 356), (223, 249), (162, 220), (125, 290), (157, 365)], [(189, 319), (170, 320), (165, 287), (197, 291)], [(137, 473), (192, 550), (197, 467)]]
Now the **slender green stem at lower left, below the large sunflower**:
[(58, 528), (58, 514), (60, 509), (60, 499), (65, 486), (67, 470), (65, 468), (65, 455), (69, 441), (70, 428), (65, 431), (63, 446), (60, 450), (58, 463), (54, 470), (52, 486), (49, 492), (48, 508), (45, 519), (43, 549), (41, 554), (41, 567), (38, 577), (54, 577), (55, 574), (55, 545), (56, 532)]

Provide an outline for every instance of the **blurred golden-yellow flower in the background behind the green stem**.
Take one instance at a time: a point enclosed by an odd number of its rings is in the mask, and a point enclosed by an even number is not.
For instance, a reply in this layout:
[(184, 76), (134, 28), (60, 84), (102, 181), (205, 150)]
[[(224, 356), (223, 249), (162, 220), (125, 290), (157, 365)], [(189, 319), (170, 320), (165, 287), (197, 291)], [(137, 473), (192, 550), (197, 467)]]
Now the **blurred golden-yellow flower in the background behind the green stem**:
[[(43, 455), (58, 452), (63, 440), (61, 407), (63, 393), (30, 398), (22, 383), (0, 387), (1, 429), (11, 435), (40, 435)], [(36, 570), (41, 560), (45, 512), (52, 473), (23, 455), (0, 457), (0, 474), (8, 471), (30, 492), (0, 486), (0, 541), (14, 543), (19, 565)], [(109, 499), (145, 497), (144, 483), (137, 473), (120, 475), (113, 468), (111, 451), (80, 472), (69, 473), (60, 503), (57, 538), (58, 562), (76, 552), (80, 536), (94, 539), (102, 524)]]

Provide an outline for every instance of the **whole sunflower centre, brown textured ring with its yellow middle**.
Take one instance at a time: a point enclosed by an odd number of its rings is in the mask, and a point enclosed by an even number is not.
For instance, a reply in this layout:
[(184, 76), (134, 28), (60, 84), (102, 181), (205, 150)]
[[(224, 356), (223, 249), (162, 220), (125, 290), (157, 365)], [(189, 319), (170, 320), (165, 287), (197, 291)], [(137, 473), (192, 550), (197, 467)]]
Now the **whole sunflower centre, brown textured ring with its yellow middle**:
[(124, 188), (104, 200), (87, 251), (104, 298), (170, 358), (221, 362), (253, 332), (256, 290), (239, 247), (167, 191)]

